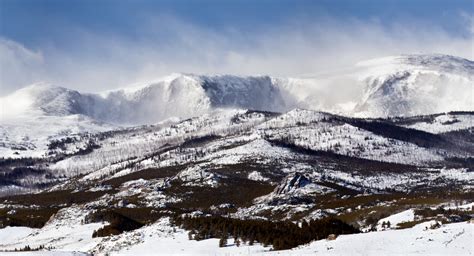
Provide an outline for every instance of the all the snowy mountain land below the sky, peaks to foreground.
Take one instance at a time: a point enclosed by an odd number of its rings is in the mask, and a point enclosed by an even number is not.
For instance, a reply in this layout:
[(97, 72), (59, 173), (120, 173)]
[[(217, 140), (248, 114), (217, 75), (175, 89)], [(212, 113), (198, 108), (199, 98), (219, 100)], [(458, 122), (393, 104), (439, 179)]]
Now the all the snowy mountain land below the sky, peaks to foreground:
[(473, 184), (454, 56), (0, 98), (2, 252), (472, 255)]

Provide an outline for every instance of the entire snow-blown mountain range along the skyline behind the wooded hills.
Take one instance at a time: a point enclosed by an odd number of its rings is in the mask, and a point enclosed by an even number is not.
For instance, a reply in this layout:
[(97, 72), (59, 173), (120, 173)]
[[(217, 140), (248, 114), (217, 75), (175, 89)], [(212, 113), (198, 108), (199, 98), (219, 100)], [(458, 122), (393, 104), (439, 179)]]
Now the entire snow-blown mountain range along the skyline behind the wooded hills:
[(101, 94), (34, 84), (0, 98), (0, 120), (81, 114), (109, 123), (150, 124), (216, 108), (284, 112), (295, 107), (364, 117), (410, 116), (474, 110), (473, 84), (472, 61), (404, 55), (306, 78), (173, 74)]

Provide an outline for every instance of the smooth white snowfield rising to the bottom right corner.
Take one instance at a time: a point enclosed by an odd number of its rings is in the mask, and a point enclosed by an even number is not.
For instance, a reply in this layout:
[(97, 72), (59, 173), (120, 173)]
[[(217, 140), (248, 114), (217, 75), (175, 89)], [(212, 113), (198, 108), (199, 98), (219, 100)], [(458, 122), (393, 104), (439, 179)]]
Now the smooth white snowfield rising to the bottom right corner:
[(430, 229), (425, 222), (410, 229), (342, 235), (275, 255), (473, 255), (474, 224), (467, 222)]

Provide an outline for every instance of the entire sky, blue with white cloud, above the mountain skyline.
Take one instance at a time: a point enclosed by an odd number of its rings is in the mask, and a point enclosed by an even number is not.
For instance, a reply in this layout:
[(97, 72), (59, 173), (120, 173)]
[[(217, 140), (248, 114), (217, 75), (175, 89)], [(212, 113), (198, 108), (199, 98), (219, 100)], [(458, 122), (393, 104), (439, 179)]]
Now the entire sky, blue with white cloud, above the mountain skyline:
[(0, 94), (170, 72), (298, 75), (400, 53), (472, 59), (473, 2), (0, 0)]

